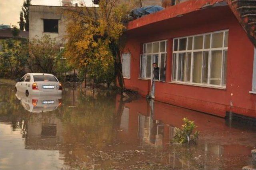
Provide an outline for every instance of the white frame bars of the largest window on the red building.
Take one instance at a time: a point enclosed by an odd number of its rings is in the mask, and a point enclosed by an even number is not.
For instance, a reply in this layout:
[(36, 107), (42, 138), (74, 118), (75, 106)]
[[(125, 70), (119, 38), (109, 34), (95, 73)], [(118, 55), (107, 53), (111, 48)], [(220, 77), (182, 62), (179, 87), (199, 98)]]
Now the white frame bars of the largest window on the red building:
[[(222, 42), (222, 47), (221, 48), (212, 48), (212, 34), (215, 33), (223, 33), (223, 42)], [(184, 36), (184, 37), (178, 37), (178, 38), (174, 38), (173, 39), (173, 46), (172, 46), (172, 54), (176, 54), (176, 75), (175, 75), (175, 80), (173, 80), (172, 77), (172, 82), (177, 82), (177, 83), (181, 83), (181, 84), (188, 84), (188, 85), (195, 85), (195, 86), (208, 86), (208, 87), (217, 87), (217, 88), (226, 88), (226, 85), (222, 85), (223, 81), (224, 81), (224, 77), (223, 77), (223, 59), (224, 59), (224, 51), (228, 51), (228, 46), (225, 47), (225, 32), (229, 32), (229, 30), (220, 30), (220, 31), (215, 31), (215, 32), (206, 32), (204, 34), (196, 34), (196, 35), (192, 35), (192, 36)], [(210, 34), (210, 48), (204, 48), (204, 41), (205, 41), (205, 36)], [(202, 49), (199, 50), (194, 50), (194, 37), (196, 36), (203, 36), (203, 47)], [(188, 49), (188, 38), (192, 37), (192, 50), (187, 50)], [(186, 41), (186, 50), (181, 50), (179, 51), (179, 46), (180, 46), (180, 39), (182, 38), (187, 38)], [(178, 40), (178, 50), (174, 51), (174, 41)], [(221, 66), (221, 78), (220, 78), (220, 85), (214, 85), (214, 84), (210, 84), (210, 71), (211, 71), (211, 61), (212, 61), (212, 51), (222, 51), (222, 66)], [(202, 82), (202, 72), (201, 72), (201, 82), (202, 83), (195, 83), (192, 82), (192, 77), (193, 77), (193, 62), (194, 62), (194, 52), (202, 52), (204, 54), (204, 52), (209, 52), (208, 54), (208, 80), (207, 80), (207, 84)], [(178, 54), (179, 53), (191, 53), (191, 65), (190, 65), (190, 81), (186, 82), (185, 81), (178, 81)], [(202, 54), (202, 63), (203, 63), (203, 54)], [(172, 55), (173, 56), (173, 55)], [(227, 57), (227, 56), (226, 56)], [(203, 64), (202, 64), (203, 65)], [(173, 66), (173, 60), (172, 60), (172, 66)], [(227, 68), (226, 68), (227, 69)]]

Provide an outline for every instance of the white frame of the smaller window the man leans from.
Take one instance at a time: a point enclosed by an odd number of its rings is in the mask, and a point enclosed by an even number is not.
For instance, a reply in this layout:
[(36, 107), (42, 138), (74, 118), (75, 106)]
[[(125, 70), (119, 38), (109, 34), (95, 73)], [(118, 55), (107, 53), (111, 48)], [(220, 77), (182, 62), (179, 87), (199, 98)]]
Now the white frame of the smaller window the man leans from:
[[(153, 53), (153, 43), (156, 43), (158, 42), (159, 43), (159, 49), (158, 49), (158, 52), (154, 52)], [(164, 52), (160, 52), (160, 48), (161, 48), (161, 42), (165, 42), (165, 50)], [(147, 44), (151, 44), (151, 53), (147, 53)], [(145, 50), (144, 50), (144, 47), (146, 46)], [(145, 51), (145, 53), (144, 53)], [(158, 55), (158, 67), (161, 68), (161, 55), (162, 54), (165, 54), (165, 60), (167, 60), (167, 40), (160, 40), (160, 41), (154, 41), (154, 42), (147, 42), (147, 43), (144, 43), (143, 44), (143, 48), (142, 48), (142, 54), (140, 55), (140, 75), (139, 75), (139, 78), (142, 78), (142, 79), (146, 79), (146, 80), (151, 80), (153, 77), (152, 77), (152, 64), (153, 64), (153, 55)], [(151, 56), (151, 68), (150, 68), (150, 78), (146, 77), (146, 58), (147, 56)], [(141, 60), (142, 58), (144, 58), (144, 60)], [(141, 72), (141, 62), (143, 62), (143, 68), (142, 68), (142, 72)], [(159, 79), (160, 79), (160, 75), (161, 75), (161, 71), (159, 70)], [(165, 81), (165, 80), (161, 80), (161, 81)]]

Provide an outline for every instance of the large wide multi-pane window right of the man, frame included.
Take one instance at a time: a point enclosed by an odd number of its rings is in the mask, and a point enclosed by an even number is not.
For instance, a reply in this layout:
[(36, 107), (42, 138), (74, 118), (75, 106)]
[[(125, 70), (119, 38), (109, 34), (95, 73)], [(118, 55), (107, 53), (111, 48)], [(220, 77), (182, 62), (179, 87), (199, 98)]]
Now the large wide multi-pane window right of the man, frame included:
[(228, 30), (174, 38), (172, 82), (226, 87)]

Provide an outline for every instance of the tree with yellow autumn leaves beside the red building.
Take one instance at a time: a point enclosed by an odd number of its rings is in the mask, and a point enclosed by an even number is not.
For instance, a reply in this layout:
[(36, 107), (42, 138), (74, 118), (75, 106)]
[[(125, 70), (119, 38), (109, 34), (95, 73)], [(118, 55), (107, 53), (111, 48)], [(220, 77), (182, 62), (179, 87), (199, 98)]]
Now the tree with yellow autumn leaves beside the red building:
[(114, 75), (122, 91), (125, 89), (121, 64), (125, 21), (134, 6), (136, 0), (100, 0), (98, 8), (65, 10), (68, 21), (66, 58), (89, 74), (106, 73), (114, 66)]

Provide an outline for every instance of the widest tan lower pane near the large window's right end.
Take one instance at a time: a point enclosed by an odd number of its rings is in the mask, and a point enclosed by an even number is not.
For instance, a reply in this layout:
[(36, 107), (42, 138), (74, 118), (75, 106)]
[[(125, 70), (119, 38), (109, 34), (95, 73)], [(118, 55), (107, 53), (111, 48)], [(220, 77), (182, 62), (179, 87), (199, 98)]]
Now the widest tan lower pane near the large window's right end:
[(212, 51), (210, 84), (220, 85), (222, 50)]

